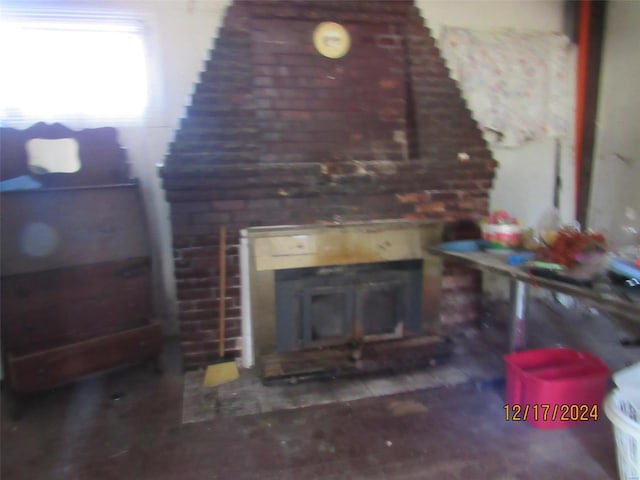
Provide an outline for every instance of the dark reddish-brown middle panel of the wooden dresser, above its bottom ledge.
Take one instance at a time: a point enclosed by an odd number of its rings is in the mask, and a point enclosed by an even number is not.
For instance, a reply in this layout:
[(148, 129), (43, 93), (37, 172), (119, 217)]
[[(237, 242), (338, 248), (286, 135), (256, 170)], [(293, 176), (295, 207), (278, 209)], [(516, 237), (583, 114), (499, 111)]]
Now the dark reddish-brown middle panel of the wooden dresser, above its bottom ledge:
[(146, 325), (146, 257), (2, 279), (3, 350), (25, 355)]

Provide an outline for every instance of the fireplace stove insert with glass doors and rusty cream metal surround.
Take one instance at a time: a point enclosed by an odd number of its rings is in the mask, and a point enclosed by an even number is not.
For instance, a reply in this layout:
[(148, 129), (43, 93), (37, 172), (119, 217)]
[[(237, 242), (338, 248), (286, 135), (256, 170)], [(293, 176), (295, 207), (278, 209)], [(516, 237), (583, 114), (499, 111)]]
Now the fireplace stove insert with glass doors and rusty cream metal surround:
[(265, 378), (411, 366), (445, 353), (435, 221), (255, 227), (241, 240), (243, 363)]

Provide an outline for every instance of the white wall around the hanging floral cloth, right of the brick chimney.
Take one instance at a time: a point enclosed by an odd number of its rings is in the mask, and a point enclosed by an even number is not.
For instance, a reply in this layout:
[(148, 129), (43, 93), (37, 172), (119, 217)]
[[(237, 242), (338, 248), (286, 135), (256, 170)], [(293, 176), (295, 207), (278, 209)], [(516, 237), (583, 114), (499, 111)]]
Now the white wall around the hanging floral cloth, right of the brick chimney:
[[(559, 0), (416, 0), (436, 40), (442, 27), (477, 30), (562, 32), (563, 4)], [(568, 114), (573, 119), (573, 108)], [(493, 148), (499, 167), (490, 197), (491, 209), (505, 209), (524, 225), (535, 227), (553, 206), (555, 140), (530, 142), (519, 148)], [(563, 177), (560, 210), (564, 221), (575, 218), (573, 128), (561, 139)]]

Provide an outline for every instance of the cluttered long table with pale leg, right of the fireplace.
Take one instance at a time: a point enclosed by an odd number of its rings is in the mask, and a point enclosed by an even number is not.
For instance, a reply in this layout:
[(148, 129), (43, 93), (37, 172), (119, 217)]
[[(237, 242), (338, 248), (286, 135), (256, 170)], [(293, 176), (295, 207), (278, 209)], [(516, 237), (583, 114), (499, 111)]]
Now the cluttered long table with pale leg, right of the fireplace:
[[(572, 297), (586, 299), (595, 304), (596, 308), (607, 313), (640, 322), (640, 295), (633, 298), (621, 294), (621, 290), (610, 282), (603, 280), (593, 287), (577, 286), (571, 283), (552, 280), (532, 275), (526, 268), (514, 267), (507, 263), (508, 255), (478, 252), (454, 252), (432, 248), (432, 253), (441, 255), (450, 261), (456, 261), (466, 266), (484, 272), (495, 273), (510, 279), (511, 321), (509, 332), (509, 348), (511, 351), (522, 350), (526, 346), (526, 310), (528, 290), (531, 285), (545, 288), (554, 292), (564, 293)], [(635, 287), (640, 289), (640, 286)], [(638, 291), (640, 293), (640, 290)]]

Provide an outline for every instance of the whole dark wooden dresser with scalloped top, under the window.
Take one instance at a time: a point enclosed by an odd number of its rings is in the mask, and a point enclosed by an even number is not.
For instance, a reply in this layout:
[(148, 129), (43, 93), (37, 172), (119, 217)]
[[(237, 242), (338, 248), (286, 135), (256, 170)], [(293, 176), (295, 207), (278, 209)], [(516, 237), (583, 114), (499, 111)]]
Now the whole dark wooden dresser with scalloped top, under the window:
[[(9, 138), (78, 133), (36, 127), (11, 131)], [(119, 145), (96, 149), (92, 143), (105, 135), (115, 141), (113, 129), (81, 132), (81, 154), (94, 165), (107, 155), (102, 176), (100, 167), (91, 177), (79, 175), (82, 169), (66, 177), (33, 175), (41, 188), (1, 194), (3, 371), (16, 393), (157, 359), (161, 352), (139, 185), (124, 174)], [(82, 149), (87, 142), (95, 151)], [(115, 158), (113, 152), (119, 152)], [(10, 160), (15, 170), (19, 162)]]

